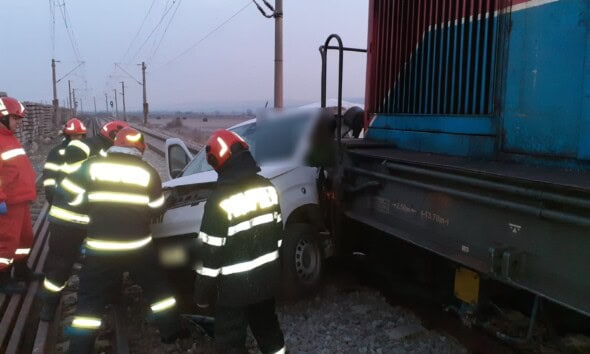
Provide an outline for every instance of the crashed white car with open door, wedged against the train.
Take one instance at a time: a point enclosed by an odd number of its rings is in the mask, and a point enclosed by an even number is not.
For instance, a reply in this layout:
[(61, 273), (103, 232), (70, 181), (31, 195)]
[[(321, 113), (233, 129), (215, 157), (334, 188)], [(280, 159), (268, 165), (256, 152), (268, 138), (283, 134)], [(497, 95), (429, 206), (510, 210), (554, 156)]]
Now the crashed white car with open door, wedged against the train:
[[(322, 124), (325, 123), (325, 124)], [(283, 295), (297, 298), (320, 283), (325, 256), (331, 253), (330, 232), (321, 208), (321, 166), (330, 155), (334, 116), (320, 109), (269, 113), (229, 130), (243, 137), (261, 167), (262, 176), (278, 189), (285, 234), (281, 247)], [(331, 133), (329, 133), (331, 134)], [(328, 145), (326, 145), (328, 141)], [(193, 255), (204, 205), (217, 174), (207, 164), (204, 149), (194, 157), (180, 139), (166, 142), (170, 180), (163, 184), (167, 210), (153, 223), (160, 261), (169, 268), (186, 268)]]

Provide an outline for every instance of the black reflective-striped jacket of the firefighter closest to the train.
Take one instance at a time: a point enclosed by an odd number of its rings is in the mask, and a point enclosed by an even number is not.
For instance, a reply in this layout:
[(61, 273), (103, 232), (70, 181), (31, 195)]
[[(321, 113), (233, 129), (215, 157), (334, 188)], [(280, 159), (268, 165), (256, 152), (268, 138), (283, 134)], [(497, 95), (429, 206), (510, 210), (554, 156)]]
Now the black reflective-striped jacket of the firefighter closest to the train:
[[(249, 153), (243, 157), (248, 165)], [(275, 295), (283, 231), (277, 191), (255, 171), (240, 176), (238, 170), (235, 180), (218, 182), (205, 205), (202, 259), (195, 266), (197, 302), (207, 302), (215, 292), (217, 302), (227, 306)]]

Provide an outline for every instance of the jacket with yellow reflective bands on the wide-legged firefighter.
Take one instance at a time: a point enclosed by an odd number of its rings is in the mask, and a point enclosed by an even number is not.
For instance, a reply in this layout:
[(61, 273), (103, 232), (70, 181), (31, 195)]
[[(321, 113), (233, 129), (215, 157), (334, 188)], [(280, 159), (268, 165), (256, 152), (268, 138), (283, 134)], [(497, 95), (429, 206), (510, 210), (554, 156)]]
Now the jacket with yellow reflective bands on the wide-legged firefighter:
[(97, 252), (142, 248), (151, 241), (151, 218), (164, 206), (156, 170), (123, 153), (89, 158), (64, 177), (60, 189), (71, 210), (88, 215), (87, 248)]

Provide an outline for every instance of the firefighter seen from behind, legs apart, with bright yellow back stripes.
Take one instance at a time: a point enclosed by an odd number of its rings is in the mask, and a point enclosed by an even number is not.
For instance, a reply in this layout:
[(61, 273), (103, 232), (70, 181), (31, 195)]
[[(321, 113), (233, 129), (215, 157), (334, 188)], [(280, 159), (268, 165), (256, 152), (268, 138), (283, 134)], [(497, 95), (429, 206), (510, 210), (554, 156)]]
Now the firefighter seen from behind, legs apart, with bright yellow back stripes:
[(142, 286), (162, 340), (170, 342), (179, 335), (176, 300), (158, 266), (150, 234), (150, 219), (164, 206), (161, 180), (142, 160), (144, 150), (143, 135), (126, 127), (107, 156), (88, 159), (61, 182), (70, 193), (70, 204), (88, 220), (70, 353), (92, 351), (103, 308), (111, 299), (105, 293), (124, 271)]

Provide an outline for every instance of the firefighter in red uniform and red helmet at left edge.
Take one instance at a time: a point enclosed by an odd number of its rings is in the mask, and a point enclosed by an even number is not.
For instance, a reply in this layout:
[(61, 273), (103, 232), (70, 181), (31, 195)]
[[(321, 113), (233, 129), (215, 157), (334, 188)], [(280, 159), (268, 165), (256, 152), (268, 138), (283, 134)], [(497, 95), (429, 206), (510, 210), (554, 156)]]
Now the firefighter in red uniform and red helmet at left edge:
[(37, 197), (35, 171), (14, 136), (24, 117), (25, 107), (18, 100), (0, 97), (0, 292), (3, 293), (22, 293), (24, 286), (17, 280), (32, 273), (26, 260), (33, 244), (29, 204)]

